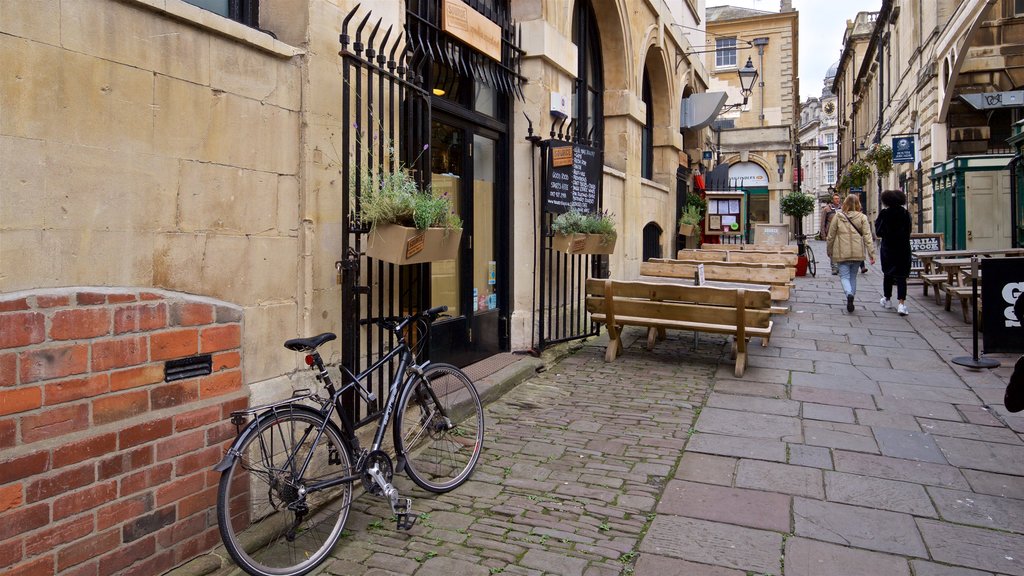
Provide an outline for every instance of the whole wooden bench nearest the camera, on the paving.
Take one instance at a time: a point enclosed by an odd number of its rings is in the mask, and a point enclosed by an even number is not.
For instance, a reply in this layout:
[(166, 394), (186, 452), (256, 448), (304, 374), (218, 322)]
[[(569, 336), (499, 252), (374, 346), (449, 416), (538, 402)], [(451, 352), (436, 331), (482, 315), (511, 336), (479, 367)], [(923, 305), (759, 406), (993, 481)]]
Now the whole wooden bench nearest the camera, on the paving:
[(591, 278), (587, 280), (587, 311), (591, 320), (608, 329), (605, 362), (622, 354), (626, 326), (647, 328), (648, 349), (665, 338), (668, 329), (728, 334), (734, 337), (736, 377), (746, 369), (748, 340), (759, 336), (762, 345), (768, 345), (772, 329), (767, 290)]

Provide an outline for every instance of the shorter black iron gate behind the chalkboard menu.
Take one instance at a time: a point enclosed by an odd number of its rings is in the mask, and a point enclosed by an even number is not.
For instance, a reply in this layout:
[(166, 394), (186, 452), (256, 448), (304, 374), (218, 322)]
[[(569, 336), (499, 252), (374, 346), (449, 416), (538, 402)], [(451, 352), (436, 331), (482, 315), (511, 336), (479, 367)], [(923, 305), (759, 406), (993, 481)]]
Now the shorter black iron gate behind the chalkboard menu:
[[(557, 130), (557, 132), (556, 132)], [(594, 147), (595, 141), (588, 135), (581, 135), (568, 126), (552, 126), (550, 138), (540, 142), (542, 181), (547, 183), (549, 173), (549, 147), (555, 141), (569, 141), (573, 145)], [(597, 148), (598, 165), (604, 164), (603, 151)], [(603, 176), (601, 176), (603, 177)], [(608, 257), (590, 254), (567, 254), (552, 248), (551, 222), (554, 214), (549, 210), (547, 194), (541, 193), (541, 214), (544, 236), (537, 290), (540, 300), (540, 321), (538, 322), (538, 343), (541, 349), (552, 344), (596, 336), (599, 328), (587, 315), (587, 279), (608, 277)], [(601, 209), (601, 194), (597, 194), (597, 207)]]

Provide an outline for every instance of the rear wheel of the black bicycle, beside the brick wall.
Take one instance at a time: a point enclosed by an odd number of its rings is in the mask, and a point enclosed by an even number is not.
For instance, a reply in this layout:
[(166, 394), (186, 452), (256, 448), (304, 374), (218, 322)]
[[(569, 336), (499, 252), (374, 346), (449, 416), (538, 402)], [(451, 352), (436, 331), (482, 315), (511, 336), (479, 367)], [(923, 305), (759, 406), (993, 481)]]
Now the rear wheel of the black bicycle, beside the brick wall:
[(351, 474), (337, 426), (314, 412), (286, 408), (264, 418), (239, 452), (217, 492), (224, 547), (249, 574), (309, 572), (341, 536), (352, 501), (350, 482), (317, 486)]

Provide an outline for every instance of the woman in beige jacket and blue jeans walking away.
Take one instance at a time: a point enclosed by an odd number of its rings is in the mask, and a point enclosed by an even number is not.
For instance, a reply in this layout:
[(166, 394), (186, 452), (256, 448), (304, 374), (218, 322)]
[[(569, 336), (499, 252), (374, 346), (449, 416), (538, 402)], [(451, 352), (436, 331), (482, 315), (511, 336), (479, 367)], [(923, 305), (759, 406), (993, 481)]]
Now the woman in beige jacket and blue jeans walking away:
[(839, 266), (839, 278), (846, 293), (846, 312), (853, 312), (853, 297), (857, 293), (857, 272), (864, 262), (866, 251), (874, 263), (874, 241), (871, 224), (860, 211), (860, 199), (849, 194), (843, 201), (843, 210), (828, 227), (828, 257)]

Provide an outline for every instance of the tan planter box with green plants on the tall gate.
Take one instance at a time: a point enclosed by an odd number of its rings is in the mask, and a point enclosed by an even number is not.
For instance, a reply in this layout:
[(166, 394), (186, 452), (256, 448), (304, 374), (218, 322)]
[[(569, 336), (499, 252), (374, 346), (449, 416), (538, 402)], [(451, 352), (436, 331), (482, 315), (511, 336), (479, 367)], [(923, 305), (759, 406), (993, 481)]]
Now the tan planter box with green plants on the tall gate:
[(360, 174), (359, 219), (371, 225), (367, 256), (395, 264), (455, 258), (462, 219), (447, 195), (419, 190), (408, 170)]

